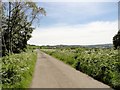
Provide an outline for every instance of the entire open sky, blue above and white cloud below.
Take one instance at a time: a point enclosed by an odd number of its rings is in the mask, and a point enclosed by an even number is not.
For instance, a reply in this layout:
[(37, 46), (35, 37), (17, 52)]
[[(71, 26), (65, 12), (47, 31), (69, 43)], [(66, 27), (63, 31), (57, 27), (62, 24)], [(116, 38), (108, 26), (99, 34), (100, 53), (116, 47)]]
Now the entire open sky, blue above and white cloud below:
[(29, 44), (107, 44), (112, 43), (118, 32), (117, 2), (37, 2), (37, 5), (47, 15), (41, 17)]

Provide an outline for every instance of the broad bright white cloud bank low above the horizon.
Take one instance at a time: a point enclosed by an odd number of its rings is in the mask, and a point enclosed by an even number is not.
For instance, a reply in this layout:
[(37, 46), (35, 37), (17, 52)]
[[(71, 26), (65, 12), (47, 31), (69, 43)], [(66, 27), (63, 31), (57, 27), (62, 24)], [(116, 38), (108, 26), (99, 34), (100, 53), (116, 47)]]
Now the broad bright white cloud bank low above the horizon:
[(91, 45), (112, 43), (118, 31), (118, 22), (96, 21), (74, 26), (37, 28), (29, 44), (35, 45)]

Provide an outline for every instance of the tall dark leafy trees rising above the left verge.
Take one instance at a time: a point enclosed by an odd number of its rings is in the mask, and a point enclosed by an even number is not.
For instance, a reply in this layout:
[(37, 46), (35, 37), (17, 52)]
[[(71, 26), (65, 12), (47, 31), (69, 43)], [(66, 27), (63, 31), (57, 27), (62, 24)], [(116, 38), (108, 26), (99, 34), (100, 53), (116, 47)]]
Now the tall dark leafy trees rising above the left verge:
[(25, 51), (27, 41), (31, 38), (36, 25), (42, 15), (46, 15), (44, 8), (34, 2), (6, 2), (2, 3), (2, 55)]

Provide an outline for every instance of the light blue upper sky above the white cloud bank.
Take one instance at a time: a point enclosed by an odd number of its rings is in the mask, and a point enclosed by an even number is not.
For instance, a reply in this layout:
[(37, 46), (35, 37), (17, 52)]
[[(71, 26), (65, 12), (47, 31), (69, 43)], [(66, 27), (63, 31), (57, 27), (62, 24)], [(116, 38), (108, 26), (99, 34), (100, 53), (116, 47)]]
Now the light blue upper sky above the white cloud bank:
[(41, 27), (117, 20), (117, 2), (41, 2), (38, 5), (47, 12)]

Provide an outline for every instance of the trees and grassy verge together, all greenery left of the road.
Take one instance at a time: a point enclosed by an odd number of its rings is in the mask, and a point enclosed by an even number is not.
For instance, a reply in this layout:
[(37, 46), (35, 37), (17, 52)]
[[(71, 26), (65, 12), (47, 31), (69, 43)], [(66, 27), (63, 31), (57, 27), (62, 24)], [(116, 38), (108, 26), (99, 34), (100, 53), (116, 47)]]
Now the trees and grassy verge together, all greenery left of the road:
[[(2, 45), (0, 52), (0, 79), (2, 88), (29, 88), (37, 58), (34, 51), (37, 47), (30, 46), (27, 41), (32, 37), (35, 24), (41, 16), (45, 16), (44, 8), (35, 2), (0, 2)], [(34, 26), (34, 27), (33, 27)]]

